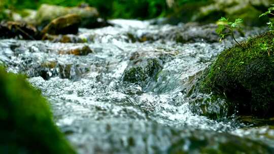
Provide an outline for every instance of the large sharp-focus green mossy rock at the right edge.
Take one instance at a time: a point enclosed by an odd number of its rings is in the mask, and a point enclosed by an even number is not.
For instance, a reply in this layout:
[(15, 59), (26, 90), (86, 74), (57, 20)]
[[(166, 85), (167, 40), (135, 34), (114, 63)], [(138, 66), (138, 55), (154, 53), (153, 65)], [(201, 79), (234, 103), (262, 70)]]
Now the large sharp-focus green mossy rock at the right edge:
[(273, 117), (274, 33), (267, 32), (223, 51), (203, 74), (202, 93), (230, 100), (240, 115)]

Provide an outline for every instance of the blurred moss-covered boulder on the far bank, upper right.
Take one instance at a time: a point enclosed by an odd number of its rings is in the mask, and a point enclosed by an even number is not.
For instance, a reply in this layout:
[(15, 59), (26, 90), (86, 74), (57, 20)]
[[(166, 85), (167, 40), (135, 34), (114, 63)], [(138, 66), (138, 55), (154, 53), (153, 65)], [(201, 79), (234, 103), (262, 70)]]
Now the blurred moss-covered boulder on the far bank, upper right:
[(242, 18), (244, 23), (249, 26), (261, 26), (265, 24), (267, 18), (259, 18), (259, 15), (265, 12), (272, 3), (274, 3), (272, 0), (215, 0), (214, 3), (201, 7), (199, 13), (193, 16), (193, 19), (204, 22), (208, 19), (217, 18), (218, 20), (220, 17), (225, 16), (231, 20)]

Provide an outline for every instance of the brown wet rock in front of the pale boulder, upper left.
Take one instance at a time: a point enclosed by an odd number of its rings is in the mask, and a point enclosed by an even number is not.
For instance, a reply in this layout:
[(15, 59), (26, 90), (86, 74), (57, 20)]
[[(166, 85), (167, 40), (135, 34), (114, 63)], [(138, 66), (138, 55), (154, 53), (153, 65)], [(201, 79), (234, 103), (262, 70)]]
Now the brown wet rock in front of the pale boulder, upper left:
[(77, 34), (81, 22), (81, 17), (76, 14), (68, 14), (52, 20), (42, 33), (52, 35), (58, 34)]

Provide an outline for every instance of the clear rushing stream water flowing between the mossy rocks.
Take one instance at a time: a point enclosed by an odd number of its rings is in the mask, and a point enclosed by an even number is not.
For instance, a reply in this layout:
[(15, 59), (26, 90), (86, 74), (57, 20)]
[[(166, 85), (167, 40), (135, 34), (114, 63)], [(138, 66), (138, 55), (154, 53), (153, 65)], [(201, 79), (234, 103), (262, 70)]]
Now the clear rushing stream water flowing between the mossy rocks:
[[(51, 104), (56, 125), (79, 153), (230, 153), (241, 143), (250, 149), (247, 153), (274, 152), (271, 126), (247, 125), (233, 116), (211, 120), (189, 108), (189, 80), (233, 44), (229, 39), (214, 41), (218, 36), (209, 33), (212, 25), (111, 22), (114, 26), (80, 28), (78, 35), (71, 35), (85, 43), (0, 40), (0, 63), (8, 71), (29, 76)], [(237, 39), (264, 30), (252, 28)], [(59, 52), (83, 46), (92, 53)], [(123, 72), (136, 53), (162, 60), (156, 80), (143, 85), (123, 82)]]

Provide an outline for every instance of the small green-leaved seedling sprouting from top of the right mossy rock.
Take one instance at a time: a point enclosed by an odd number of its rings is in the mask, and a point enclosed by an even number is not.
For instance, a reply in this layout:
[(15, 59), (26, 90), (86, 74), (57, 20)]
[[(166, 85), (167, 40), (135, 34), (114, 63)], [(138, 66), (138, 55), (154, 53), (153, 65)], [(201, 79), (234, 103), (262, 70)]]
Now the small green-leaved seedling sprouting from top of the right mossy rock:
[[(216, 29), (216, 32), (219, 34), (220, 38), (220, 42), (222, 40), (224, 40), (224, 38), (228, 35), (231, 35), (233, 40), (239, 45), (241, 46), (241, 44), (239, 44), (234, 36), (234, 31), (235, 30), (241, 30), (241, 27), (239, 26), (240, 23), (243, 22), (243, 19), (238, 18), (236, 19), (234, 22), (229, 21), (228, 19), (226, 19), (225, 17), (222, 17), (221, 19), (219, 19), (219, 24), (218, 24), (218, 28)], [(226, 31), (228, 30), (228, 31)]]

